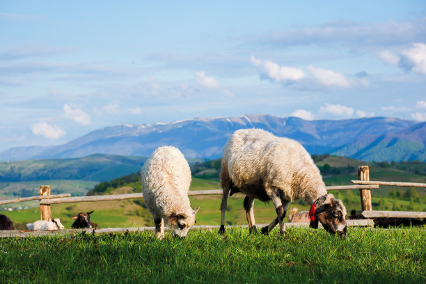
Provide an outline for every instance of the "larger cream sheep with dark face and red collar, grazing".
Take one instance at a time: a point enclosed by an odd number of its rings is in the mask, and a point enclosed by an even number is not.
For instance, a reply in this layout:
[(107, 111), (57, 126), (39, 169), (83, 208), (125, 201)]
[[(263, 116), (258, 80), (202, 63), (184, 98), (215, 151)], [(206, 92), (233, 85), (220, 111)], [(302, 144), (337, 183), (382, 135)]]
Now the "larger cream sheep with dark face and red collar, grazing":
[(223, 148), (221, 187), (221, 228), (225, 232), (228, 194), (246, 195), (244, 208), (250, 232), (255, 232), (254, 199), (272, 201), (277, 218), (262, 228), (267, 235), (277, 223), (285, 232), (284, 217), (290, 201), (300, 198), (312, 205), (310, 227), (318, 221), (331, 234), (346, 234), (346, 208), (342, 201), (327, 194), (321, 173), (300, 143), (276, 137), (262, 129), (240, 129)]

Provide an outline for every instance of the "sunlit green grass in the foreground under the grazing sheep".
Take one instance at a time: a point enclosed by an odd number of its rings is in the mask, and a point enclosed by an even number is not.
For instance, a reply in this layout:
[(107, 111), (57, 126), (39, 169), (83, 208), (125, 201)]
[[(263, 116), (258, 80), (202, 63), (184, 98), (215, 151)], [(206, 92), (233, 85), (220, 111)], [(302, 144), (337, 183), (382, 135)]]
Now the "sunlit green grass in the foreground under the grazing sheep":
[(0, 283), (425, 283), (426, 230), (293, 228), (1, 239)]

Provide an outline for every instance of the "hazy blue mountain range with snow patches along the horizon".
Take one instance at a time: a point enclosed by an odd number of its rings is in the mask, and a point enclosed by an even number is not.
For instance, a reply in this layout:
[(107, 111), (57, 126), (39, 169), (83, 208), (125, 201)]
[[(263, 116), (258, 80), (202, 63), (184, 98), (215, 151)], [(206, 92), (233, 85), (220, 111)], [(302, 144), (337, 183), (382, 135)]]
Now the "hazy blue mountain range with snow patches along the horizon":
[(216, 159), (235, 130), (253, 127), (295, 139), (310, 154), (328, 153), (364, 161), (426, 161), (426, 123), (385, 117), (303, 120), (260, 114), (104, 127), (63, 145), (10, 148), (0, 152), (0, 160), (94, 154), (148, 157), (161, 145), (178, 147), (187, 159)]

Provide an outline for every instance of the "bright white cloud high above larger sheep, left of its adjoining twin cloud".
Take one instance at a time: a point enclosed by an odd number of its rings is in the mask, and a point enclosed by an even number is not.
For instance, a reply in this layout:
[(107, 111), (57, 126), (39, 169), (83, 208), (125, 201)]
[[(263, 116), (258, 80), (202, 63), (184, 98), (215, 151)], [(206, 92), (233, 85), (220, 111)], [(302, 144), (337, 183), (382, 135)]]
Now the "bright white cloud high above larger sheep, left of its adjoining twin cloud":
[(250, 61), (262, 72), (262, 74), (265, 74), (269, 79), (274, 81), (297, 81), (306, 77), (305, 73), (300, 68), (280, 66), (272, 61), (262, 61), (254, 56), (250, 57)]

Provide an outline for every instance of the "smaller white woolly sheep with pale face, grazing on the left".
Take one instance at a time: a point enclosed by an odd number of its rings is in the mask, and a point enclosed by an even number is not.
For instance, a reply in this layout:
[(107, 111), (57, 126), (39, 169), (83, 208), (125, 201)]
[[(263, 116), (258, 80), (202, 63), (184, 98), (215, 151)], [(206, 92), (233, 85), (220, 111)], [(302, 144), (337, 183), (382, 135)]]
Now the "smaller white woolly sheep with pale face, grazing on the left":
[(189, 203), (191, 171), (182, 152), (172, 146), (157, 148), (141, 169), (145, 205), (155, 223), (155, 235), (164, 239), (164, 222), (173, 236), (185, 237), (194, 226), (195, 211)]

